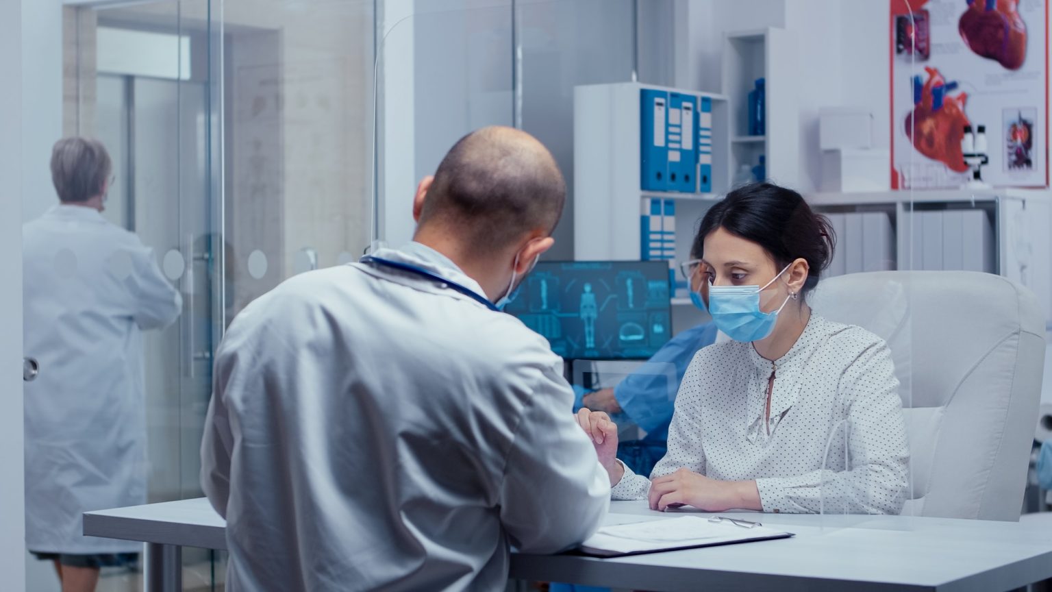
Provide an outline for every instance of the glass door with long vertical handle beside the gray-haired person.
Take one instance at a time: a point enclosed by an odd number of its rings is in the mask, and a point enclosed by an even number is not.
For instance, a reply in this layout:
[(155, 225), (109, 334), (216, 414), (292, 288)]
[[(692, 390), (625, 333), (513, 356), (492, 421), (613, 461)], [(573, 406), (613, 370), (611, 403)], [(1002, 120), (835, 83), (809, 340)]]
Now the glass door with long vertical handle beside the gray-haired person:
[[(142, 332), (149, 502), (199, 497), (200, 442), (211, 391), (211, 357), (226, 321), (223, 302), (221, 70), (213, 3), (155, 1), (77, 11), (77, 97), (66, 135), (102, 141), (114, 163), (103, 216), (153, 250), (183, 309)], [(186, 589), (222, 581), (216, 553), (186, 549)], [(54, 576), (36, 571), (36, 587)], [(50, 576), (50, 577), (48, 577)], [(218, 576), (218, 577), (217, 577)], [(140, 586), (137, 570), (107, 568), (100, 590)]]

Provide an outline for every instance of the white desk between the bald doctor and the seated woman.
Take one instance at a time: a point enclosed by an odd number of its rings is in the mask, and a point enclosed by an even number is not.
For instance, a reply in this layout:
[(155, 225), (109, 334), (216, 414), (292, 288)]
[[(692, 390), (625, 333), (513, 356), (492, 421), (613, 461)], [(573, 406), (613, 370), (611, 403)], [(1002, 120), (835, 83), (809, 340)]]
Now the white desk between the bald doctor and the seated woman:
[[(608, 524), (660, 514), (614, 501)], [(906, 516), (751, 514), (796, 536), (708, 549), (598, 559), (514, 554), (510, 577), (668, 592), (699, 590), (1011, 590), (1052, 578), (1043, 522)], [(181, 590), (181, 547), (225, 549), (225, 524), (205, 499), (84, 514), (84, 534), (142, 540), (147, 591)]]

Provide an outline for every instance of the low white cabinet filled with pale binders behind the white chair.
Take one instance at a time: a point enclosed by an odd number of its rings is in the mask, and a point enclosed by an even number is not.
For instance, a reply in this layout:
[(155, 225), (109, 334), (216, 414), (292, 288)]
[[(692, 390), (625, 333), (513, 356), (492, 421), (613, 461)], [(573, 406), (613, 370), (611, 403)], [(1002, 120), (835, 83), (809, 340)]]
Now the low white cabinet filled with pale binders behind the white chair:
[[(807, 200), (829, 216), (837, 235), (829, 276), (879, 269), (994, 273), (1033, 290), (1052, 319), (1048, 191), (820, 193)], [(890, 264), (870, 262), (882, 259)]]

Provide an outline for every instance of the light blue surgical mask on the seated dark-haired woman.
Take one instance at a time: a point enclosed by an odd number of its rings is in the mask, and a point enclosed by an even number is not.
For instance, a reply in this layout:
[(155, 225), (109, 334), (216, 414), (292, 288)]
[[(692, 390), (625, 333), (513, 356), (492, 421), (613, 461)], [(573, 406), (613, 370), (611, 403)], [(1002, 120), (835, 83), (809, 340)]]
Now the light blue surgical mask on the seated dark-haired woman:
[(712, 315), (716, 329), (735, 341), (760, 341), (774, 331), (778, 313), (795, 295), (790, 294), (776, 311), (765, 313), (760, 309), (760, 293), (774, 283), (786, 273), (789, 265), (778, 272), (765, 285), (712, 285), (709, 284), (709, 305), (696, 292), (691, 291), (690, 299), (697, 308)]

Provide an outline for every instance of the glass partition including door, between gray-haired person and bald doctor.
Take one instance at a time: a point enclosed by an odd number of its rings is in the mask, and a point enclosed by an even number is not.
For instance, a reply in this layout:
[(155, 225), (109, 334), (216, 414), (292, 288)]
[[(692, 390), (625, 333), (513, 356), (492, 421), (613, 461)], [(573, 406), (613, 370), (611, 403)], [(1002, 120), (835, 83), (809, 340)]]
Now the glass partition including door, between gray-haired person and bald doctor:
[[(134, 232), (183, 308), (142, 346), (146, 500), (199, 497), (213, 352), (254, 298), (369, 241), (373, 2), (164, 0), (77, 8), (66, 135), (113, 159), (103, 216)], [(185, 550), (184, 587), (222, 589)], [(48, 590), (54, 575), (34, 565)], [(100, 590), (139, 576), (103, 571)], [(56, 584), (57, 585), (57, 584)]]

